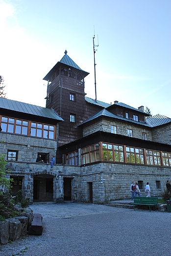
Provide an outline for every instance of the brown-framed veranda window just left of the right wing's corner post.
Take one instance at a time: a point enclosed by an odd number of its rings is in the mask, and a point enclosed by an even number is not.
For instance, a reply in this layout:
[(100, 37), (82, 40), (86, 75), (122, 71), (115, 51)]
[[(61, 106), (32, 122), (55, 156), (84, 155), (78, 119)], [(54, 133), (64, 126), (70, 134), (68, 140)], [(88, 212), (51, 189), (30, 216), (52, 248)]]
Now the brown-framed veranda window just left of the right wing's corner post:
[(93, 144), (81, 149), (81, 164), (97, 162), (100, 160), (99, 144)]

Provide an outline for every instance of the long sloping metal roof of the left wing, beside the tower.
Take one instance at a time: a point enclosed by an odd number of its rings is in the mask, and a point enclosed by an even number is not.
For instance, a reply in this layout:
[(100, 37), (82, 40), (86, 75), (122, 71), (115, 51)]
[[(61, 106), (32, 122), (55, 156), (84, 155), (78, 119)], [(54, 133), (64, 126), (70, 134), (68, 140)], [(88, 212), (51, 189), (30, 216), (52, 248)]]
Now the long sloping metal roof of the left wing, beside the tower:
[(0, 108), (30, 114), (34, 116), (50, 118), (57, 121), (64, 121), (61, 117), (58, 116), (58, 114), (53, 109), (40, 107), (12, 99), (0, 97)]

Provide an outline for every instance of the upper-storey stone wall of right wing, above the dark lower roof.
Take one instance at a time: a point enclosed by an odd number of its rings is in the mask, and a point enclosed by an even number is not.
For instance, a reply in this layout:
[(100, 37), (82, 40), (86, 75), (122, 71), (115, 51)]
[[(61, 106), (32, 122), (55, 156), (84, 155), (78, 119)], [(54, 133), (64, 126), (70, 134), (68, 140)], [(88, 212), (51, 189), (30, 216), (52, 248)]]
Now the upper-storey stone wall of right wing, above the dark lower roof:
[(90, 123), (89, 125), (84, 125), (83, 136), (87, 136), (96, 131), (111, 132), (111, 126), (117, 127), (117, 134), (127, 136), (127, 129), (132, 129), (133, 137), (138, 139), (143, 139), (142, 132), (147, 133), (147, 140), (152, 141), (152, 133), (150, 129), (146, 126), (136, 126), (133, 123), (123, 123), (122, 121), (109, 121), (106, 119), (101, 119), (96, 124)]

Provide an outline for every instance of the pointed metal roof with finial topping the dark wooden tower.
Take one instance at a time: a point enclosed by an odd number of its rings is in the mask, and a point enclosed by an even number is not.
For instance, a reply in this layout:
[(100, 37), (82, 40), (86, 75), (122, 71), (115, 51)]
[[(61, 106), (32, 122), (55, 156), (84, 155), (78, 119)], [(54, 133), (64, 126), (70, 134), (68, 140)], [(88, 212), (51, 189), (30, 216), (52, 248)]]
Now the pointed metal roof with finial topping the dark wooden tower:
[(89, 72), (84, 71), (83, 69), (81, 69), (76, 63), (74, 63), (74, 61), (67, 55), (67, 51), (65, 50), (65, 55), (62, 57), (62, 59), (60, 60), (60, 62), (57, 62), (52, 69), (49, 71), (49, 73), (43, 78), (43, 80), (50, 80), (49, 76), (53, 73), (53, 71), (57, 68), (58, 65), (60, 64), (65, 64), (68, 66), (71, 66), (73, 68), (76, 68), (80, 71), (82, 71), (84, 73), (84, 77), (87, 76), (89, 74)]

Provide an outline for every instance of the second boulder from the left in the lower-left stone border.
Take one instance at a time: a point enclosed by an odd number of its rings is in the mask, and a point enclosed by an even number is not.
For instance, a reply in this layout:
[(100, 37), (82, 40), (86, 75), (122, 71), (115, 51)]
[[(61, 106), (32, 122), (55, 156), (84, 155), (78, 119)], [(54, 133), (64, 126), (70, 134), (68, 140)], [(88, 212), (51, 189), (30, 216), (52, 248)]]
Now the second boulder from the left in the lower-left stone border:
[(15, 218), (7, 219), (5, 220), (5, 222), (9, 223), (9, 239), (11, 241), (19, 239), (22, 231), (21, 222), (19, 220), (16, 220)]

